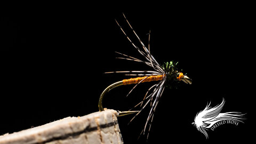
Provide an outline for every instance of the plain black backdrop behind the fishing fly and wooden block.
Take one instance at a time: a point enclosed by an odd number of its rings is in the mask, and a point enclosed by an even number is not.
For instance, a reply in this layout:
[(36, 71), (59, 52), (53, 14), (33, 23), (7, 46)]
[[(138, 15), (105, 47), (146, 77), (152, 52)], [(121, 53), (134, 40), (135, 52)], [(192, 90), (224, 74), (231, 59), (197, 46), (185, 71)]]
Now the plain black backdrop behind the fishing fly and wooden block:
[[(179, 61), (193, 79), (178, 90), (165, 89), (147, 143), (246, 142), (253, 134), (253, 17), (245, 3), (15, 3), (1, 9), (0, 134), (17, 132), (68, 116), (98, 111), (101, 92), (129, 78), (103, 74), (150, 70), (142, 63), (115, 59), (121, 52), (141, 58), (117, 26), (139, 46), (122, 13), (159, 63)], [(255, 81), (254, 81), (255, 82)], [(128, 110), (150, 87), (110, 91), (103, 107)], [(225, 98), (222, 113), (247, 113), (238, 126), (209, 131), (191, 125), (207, 102)], [(124, 143), (146, 143), (140, 135), (148, 109), (134, 119), (119, 117)], [(253, 130), (250, 132), (250, 130)]]

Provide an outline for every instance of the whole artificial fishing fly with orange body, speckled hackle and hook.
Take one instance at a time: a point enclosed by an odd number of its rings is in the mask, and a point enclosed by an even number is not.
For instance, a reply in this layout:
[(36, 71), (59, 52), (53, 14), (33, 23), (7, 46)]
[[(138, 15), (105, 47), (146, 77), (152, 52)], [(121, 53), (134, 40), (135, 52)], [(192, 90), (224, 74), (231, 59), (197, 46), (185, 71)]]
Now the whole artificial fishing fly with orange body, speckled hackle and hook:
[[(143, 98), (143, 100), (140, 103), (138, 103), (137, 106), (140, 105), (140, 107), (141, 107), (141, 109), (139, 111), (131, 111), (131, 110), (129, 110), (129, 111), (118, 111), (119, 116), (137, 113), (131, 119), (131, 121), (132, 121), (150, 103), (151, 108), (150, 108), (150, 111), (149, 111), (149, 115), (147, 117), (147, 121), (146, 121), (146, 124), (144, 126), (144, 129), (142, 130), (143, 134), (145, 134), (146, 129), (148, 129), (148, 132), (150, 131), (151, 122), (153, 121), (156, 106), (158, 105), (159, 98), (161, 98), (165, 87), (167, 86), (167, 87), (170, 87), (172, 89), (173, 87), (176, 87), (176, 85), (179, 82), (184, 82), (186, 84), (191, 84), (191, 79), (187, 75), (181, 73), (181, 71), (178, 70), (178, 68), (177, 68), (177, 63), (178, 62), (174, 63), (173, 61), (170, 61), (170, 62), (164, 63), (163, 66), (159, 65), (159, 63), (155, 60), (153, 55), (151, 55), (151, 53), (150, 53), (149, 43), (148, 43), (148, 48), (147, 48), (142, 43), (139, 36), (135, 33), (132, 26), (130, 25), (130, 22), (126, 19), (124, 14), (123, 14), (123, 16), (124, 16), (124, 19), (126, 20), (127, 24), (129, 25), (129, 27), (133, 31), (133, 34), (135, 35), (135, 37), (137, 37), (138, 41), (140, 42), (140, 44), (142, 46), (142, 49), (140, 49), (138, 46), (136, 46), (131, 41), (131, 39), (126, 35), (125, 31), (119, 25), (117, 20), (116, 20), (116, 23), (119, 26), (119, 28), (121, 29), (121, 31), (123, 32), (123, 34), (126, 36), (126, 38), (130, 41), (132, 46), (143, 56), (143, 58), (145, 58), (145, 60), (140, 60), (140, 59), (137, 59), (137, 58), (133, 58), (129, 55), (117, 52), (118, 54), (121, 54), (123, 56), (119, 59), (125, 59), (125, 60), (131, 60), (131, 61), (145, 63), (146, 65), (151, 67), (153, 70), (140, 70), (140, 71), (134, 70), (134, 71), (112, 71), (112, 72), (107, 72), (107, 74), (109, 74), (109, 73), (124, 73), (126, 75), (139, 76), (139, 77), (130, 78), (130, 79), (123, 79), (123, 81), (119, 81), (119, 82), (116, 82), (116, 83), (111, 84), (110, 86), (108, 86), (102, 92), (102, 94), (100, 95), (98, 106), (99, 106), (100, 111), (104, 110), (103, 107), (102, 107), (102, 98), (108, 91), (110, 91), (111, 89), (114, 89), (114, 87), (117, 87), (119, 85), (135, 84), (133, 89), (127, 94), (127, 95), (129, 95), (134, 90), (134, 88), (137, 85), (139, 85), (140, 83), (159, 81), (157, 84), (154, 84), (153, 86), (151, 86), (148, 89), (148, 91), (146, 92), (146, 95)], [(148, 41), (150, 41), (150, 32), (149, 32)], [(151, 92), (151, 93), (149, 94), (149, 92)], [(137, 106), (135, 106), (135, 107), (137, 107)], [(147, 138), (148, 138), (148, 135), (147, 135)]]

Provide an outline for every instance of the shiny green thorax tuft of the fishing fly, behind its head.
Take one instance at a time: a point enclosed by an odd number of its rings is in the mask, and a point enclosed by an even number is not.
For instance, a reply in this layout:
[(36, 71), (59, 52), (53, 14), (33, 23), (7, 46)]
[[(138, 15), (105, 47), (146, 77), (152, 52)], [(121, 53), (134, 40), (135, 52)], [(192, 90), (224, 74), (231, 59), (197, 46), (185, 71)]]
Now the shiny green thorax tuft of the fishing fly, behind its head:
[(171, 89), (176, 88), (175, 84), (177, 81), (177, 77), (178, 77), (178, 69), (177, 69), (177, 64), (178, 62), (165, 62), (164, 65), (162, 66), (162, 68), (165, 71), (165, 74), (167, 76), (167, 86), (170, 87)]

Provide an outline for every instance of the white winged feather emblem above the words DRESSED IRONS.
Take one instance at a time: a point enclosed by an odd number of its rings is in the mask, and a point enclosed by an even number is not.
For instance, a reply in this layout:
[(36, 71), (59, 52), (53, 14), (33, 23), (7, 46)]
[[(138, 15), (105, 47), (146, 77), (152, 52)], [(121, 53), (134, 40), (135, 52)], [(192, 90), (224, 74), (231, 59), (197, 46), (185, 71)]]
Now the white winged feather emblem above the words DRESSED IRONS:
[(222, 100), (220, 105), (217, 105), (215, 107), (210, 107), (211, 102), (209, 105), (206, 105), (204, 110), (199, 111), (199, 113), (196, 114), (195, 119), (192, 124), (196, 126), (196, 129), (200, 132), (202, 132), (206, 139), (209, 138), (208, 134), (205, 130), (210, 129), (215, 123), (218, 123), (220, 121), (237, 121), (237, 122), (243, 122), (244, 115), (239, 112), (228, 112), (228, 113), (220, 113), (225, 103), (225, 99)]

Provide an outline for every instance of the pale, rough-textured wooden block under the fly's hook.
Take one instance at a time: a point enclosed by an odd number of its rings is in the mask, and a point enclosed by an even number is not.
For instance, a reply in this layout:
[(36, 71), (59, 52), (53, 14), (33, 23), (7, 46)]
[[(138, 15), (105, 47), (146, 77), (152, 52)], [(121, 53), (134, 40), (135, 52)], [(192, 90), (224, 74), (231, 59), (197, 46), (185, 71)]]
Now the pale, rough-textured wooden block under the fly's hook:
[(106, 110), (66, 117), (28, 130), (0, 136), (0, 144), (123, 143), (117, 112)]

